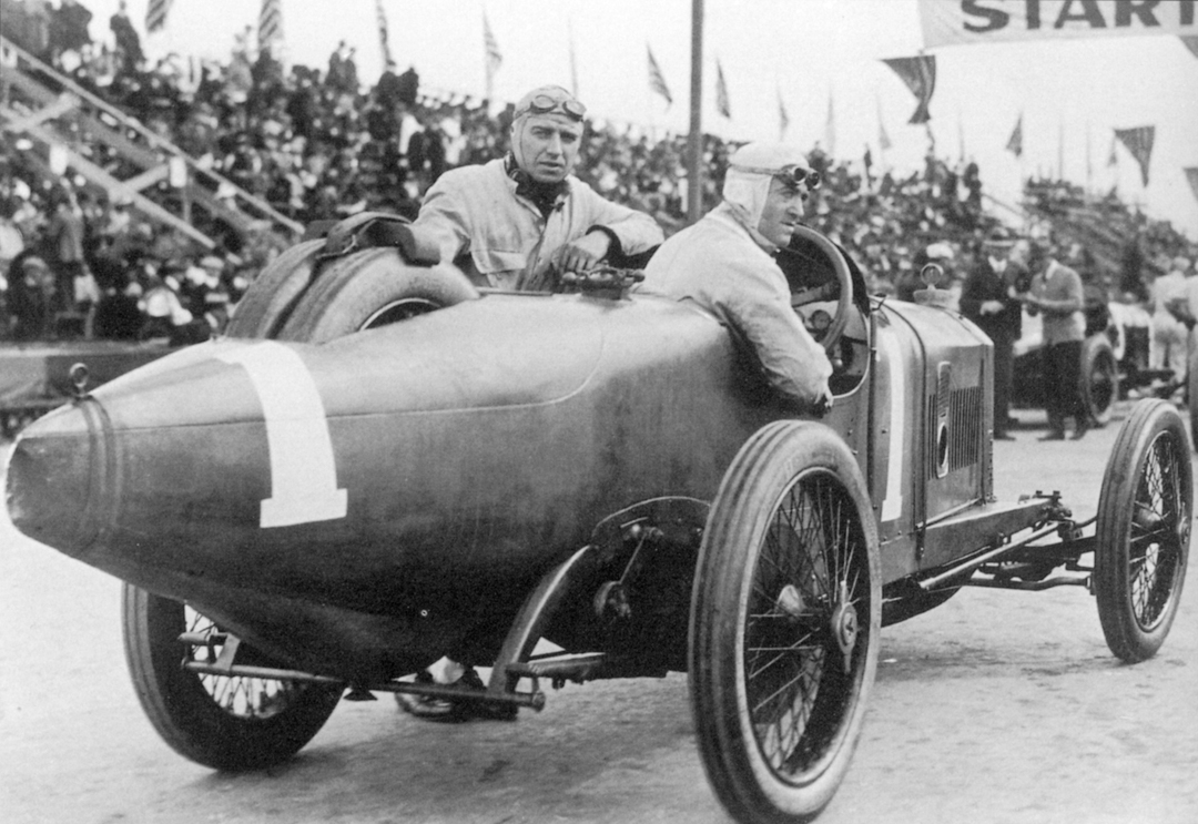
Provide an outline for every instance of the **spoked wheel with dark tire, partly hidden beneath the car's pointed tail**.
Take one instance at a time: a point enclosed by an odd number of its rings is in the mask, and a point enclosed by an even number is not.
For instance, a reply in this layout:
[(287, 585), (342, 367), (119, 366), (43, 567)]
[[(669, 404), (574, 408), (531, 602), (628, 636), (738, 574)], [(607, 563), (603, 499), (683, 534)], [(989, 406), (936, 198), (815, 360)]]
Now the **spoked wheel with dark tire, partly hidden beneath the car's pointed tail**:
[[(265, 678), (208, 675), (183, 668), (183, 632), (217, 626), (179, 601), (125, 584), (125, 656), (138, 699), (176, 752), (218, 770), (261, 769), (300, 751), (332, 715), (340, 686)], [(220, 643), (200, 646), (214, 661)]]

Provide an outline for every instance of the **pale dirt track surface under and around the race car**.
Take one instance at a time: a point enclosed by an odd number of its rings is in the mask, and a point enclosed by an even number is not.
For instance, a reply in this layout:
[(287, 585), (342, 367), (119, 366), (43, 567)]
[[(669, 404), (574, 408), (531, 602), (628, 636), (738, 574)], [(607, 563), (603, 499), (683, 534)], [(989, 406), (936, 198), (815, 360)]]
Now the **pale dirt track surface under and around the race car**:
[[(1035, 413), (1022, 417), (1034, 423)], [(996, 444), (1000, 498), (1095, 511), (1118, 424)], [(0, 447), (0, 456), (7, 447)], [(1198, 580), (1152, 660), (1107, 650), (1094, 599), (966, 589), (888, 628), (865, 732), (821, 824), (1198, 822)], [(727, 822), (686, 679), (568, 686), (515, 723), (344, 703), (294, 761), (222, 775), (169, 750), (133, 695), (120, 589), (0, 515), (0, 820)]]

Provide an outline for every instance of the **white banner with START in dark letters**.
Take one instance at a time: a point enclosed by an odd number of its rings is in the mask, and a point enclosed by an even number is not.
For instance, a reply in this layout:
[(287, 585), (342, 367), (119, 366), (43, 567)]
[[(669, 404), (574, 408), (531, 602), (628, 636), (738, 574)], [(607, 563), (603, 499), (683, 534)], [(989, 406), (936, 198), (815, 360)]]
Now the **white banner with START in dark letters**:
[(924, 46), (1198, 35), (1198, 0), (919, 0)]

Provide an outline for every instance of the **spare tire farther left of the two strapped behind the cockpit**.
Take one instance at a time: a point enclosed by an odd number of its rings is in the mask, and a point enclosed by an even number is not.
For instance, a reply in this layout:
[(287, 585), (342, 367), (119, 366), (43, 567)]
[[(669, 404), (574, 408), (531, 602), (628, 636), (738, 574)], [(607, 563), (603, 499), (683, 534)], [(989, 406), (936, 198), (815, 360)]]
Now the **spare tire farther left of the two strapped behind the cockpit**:
[(291, 315), (316, 269), (325, 240), (304, 241), (285, 249), (249, 285), (229, 320), (230, 338), (273, 338)]

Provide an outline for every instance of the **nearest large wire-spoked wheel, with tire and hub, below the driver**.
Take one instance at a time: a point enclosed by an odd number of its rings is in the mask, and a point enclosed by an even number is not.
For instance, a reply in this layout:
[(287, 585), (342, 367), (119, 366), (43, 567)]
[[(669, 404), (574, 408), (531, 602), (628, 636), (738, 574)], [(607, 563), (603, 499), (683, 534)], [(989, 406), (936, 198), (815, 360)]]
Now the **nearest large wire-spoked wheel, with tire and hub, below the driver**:
[(690, 692), (708, 780), (742, 822), (801, 822), (848, 769), (877, 670), (878, 538), (852, 453), (779, 422), (740, 449), (700, 551)]

